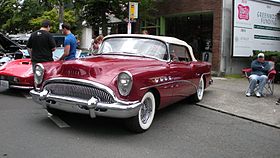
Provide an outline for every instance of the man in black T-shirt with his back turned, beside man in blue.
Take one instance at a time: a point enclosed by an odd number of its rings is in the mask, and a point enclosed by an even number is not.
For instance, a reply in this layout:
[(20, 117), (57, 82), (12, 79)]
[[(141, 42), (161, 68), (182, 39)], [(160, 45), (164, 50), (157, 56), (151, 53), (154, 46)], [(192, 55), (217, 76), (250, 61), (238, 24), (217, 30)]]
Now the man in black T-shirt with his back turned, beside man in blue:
[(33, 32), (27, 42), (31, 56), (33, 73), (37, 63), (53, 61), (52, 52), (55, 50), (55, 40), (49, 33), (50, 21), (44, 20), (40, 30)]

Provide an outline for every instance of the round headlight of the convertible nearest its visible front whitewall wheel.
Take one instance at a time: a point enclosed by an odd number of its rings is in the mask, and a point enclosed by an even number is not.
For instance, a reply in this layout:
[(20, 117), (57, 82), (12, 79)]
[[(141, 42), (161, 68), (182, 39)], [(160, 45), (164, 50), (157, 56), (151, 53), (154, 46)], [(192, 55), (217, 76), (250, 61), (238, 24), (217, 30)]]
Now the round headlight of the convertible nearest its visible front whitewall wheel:
[(132, 88), (132, 75), (129, 72), (121, 72), (118, 76), (118, 90), (122, 96), (127, 96)]

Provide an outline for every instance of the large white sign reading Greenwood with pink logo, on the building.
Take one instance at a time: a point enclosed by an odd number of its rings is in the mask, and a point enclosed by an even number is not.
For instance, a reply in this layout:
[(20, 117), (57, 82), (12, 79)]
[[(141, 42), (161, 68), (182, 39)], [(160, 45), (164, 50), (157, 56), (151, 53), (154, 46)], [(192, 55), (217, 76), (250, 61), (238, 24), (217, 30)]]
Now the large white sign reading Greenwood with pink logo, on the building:
[(280, 51), (280, 4), (234, 1), (233, 56), (249, 57), (254, 50)]

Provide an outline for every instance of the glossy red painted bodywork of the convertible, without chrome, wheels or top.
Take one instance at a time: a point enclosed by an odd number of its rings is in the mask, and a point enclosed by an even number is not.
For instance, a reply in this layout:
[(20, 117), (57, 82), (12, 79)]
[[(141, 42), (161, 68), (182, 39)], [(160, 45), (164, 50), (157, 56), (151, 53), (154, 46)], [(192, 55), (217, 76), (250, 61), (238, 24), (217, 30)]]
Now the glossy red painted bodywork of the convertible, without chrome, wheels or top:
[[(202, 74), (206, 74), (206, 87), (211, 79), (208, 74), (211, 65), (206, 62), (174, 63), (143, 57), (99, 55), (43, 65), (46, 70), (44, 80), (57, 77), (90, 80), (108, 86), (123, 101), (139, 101), (145, 92), (156, 90), (160, 95), (159, 108), (194, 94)], [(133, 82), (137, 83), (126, 97), (117, 89), (117, 76), (122, 71), (129, 71)], [(163, 81), (155, 83), (156, 79)]]

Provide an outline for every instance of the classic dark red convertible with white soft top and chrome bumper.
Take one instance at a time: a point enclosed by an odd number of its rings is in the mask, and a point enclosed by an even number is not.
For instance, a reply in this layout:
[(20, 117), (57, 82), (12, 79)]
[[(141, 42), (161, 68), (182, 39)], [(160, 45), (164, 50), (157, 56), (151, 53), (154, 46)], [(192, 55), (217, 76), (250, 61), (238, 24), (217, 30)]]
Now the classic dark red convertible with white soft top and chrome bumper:
[(186, 97), (202, 100), (210, 72), (182, 40), (110, 35), (95, 56), (36, 65), (30, 94), (52, 114), (126, 118), (130, 130), (144, 132), (157, 109)]

